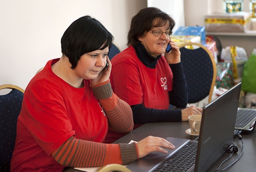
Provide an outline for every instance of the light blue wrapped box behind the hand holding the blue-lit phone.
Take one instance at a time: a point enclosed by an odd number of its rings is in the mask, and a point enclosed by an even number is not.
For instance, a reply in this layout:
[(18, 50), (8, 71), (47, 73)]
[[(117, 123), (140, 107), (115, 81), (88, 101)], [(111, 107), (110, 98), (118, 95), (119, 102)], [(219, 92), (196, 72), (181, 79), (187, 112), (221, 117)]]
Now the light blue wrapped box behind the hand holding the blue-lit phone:
[(206, 46), (206, 33), (204, 26), (181, 26), (173, 33), (173, 36), (191, 36), (190, 38), (200, 36), (200, 43)]

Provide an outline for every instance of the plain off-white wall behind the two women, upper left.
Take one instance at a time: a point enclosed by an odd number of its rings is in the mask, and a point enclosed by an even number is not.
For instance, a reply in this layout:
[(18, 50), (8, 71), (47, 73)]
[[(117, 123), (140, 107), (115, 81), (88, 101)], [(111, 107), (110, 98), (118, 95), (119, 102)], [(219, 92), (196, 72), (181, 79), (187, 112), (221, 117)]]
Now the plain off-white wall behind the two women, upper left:
[(77, 18), (90, 14), (123, 50), (130, 20), (147, 0), (1, 0), (0, 85), (23, 89), (38, 69), (61, 56), (60, 39)]

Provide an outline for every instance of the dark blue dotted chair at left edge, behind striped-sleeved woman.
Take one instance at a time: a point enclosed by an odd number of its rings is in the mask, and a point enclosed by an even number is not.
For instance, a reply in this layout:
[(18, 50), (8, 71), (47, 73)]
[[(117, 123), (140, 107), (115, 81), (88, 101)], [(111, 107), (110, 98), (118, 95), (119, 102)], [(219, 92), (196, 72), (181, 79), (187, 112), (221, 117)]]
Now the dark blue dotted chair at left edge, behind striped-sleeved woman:
[(24, 90), (18, 86), (5, 84), (0, 85), (1, 89), (9, 93), (0, 95), (0, 171), (10, 171), (11, 156), (13, 153), (17, 118), (20, 113)]

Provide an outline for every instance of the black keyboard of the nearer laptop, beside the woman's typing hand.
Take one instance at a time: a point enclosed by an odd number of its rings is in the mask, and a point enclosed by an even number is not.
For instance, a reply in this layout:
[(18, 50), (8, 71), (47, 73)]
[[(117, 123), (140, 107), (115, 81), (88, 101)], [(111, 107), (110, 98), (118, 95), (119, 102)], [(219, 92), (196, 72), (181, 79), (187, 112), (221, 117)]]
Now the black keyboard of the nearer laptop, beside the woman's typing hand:
[(173, 156), (165, 160), (154, 172), (186, 172), (196, 161), (197, 142), (190, 141)]

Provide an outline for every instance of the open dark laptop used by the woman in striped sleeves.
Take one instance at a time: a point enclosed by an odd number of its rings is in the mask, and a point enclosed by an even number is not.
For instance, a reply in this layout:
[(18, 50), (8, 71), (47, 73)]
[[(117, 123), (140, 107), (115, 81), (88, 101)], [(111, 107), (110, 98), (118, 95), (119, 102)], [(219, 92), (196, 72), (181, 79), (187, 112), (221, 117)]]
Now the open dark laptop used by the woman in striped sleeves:
[(167, 164), (173, 163), (172, 158), (177, 154), (184, 154), (184, 152), (180, 153), (181, 150), (191, 143), (192, 145), (197, 145), (197, 148), (193, 148), (193, 152), (196, 152), (195, 156), (193, 156), (194, 160), (192, 160), (194, 164), (187, 167), (184, 164), (182, 168), (184, 167), (183, 169), (187, 172), (207, 171), (232, 145), (236, 122), (236, 115), (234, 114), (237, 113), (240, 91), (241, 83), (237, 83), (203, 107), (198, 141), (166, 138), (175, 145), (174, 150), (166, 149), (168, 151), (167, 154), (160, 152), (148, 154), (144, 158), (133, 161), (126, 167), (132, 172), (163, 171), (163, 169), (169, 168)]

